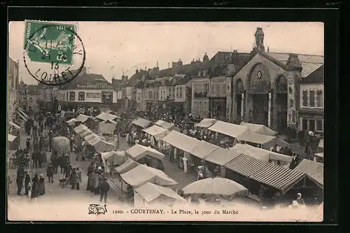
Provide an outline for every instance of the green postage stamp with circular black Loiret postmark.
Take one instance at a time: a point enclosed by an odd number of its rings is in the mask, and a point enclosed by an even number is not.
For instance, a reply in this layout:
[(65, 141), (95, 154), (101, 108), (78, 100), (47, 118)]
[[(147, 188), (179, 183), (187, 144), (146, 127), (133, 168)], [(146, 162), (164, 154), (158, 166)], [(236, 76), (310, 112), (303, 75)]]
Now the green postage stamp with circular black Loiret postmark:
[(72, 65), (76, 25), (55, 22), (25, 22), (25, 45), (31, 62)]

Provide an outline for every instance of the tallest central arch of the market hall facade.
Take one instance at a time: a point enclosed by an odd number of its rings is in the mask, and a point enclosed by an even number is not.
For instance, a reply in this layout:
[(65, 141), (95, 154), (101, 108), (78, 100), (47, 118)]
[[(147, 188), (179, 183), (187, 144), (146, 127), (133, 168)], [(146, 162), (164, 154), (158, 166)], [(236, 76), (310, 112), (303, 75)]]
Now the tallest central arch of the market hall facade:
[(248, 75), (248, 122), (269, 126), (269, 71), (264, 64), (256, 64)]

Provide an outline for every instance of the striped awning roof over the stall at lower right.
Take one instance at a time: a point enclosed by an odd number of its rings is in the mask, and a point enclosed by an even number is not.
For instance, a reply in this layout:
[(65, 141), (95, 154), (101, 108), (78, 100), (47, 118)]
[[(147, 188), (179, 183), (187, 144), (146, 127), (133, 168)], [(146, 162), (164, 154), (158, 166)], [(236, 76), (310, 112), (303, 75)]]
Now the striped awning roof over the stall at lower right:
[(243, 154), (225, 164), (225, 168), (281, 190), (283, 194), (307, 176), (300, 171), (279, 167)]

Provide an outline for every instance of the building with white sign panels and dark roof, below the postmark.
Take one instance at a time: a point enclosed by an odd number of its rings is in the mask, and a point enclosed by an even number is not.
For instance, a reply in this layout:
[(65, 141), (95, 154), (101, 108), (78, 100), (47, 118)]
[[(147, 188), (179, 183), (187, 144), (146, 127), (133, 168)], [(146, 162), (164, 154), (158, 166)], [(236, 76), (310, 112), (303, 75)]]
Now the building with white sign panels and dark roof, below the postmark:
[[(73, 71), (72, 71), (73, 72)], [(71, 82), (59, 86), (58, 103), (61, 110), (77, 111), (79, 108), (113, 110), (117, 91), (102, 75), (87, 73), (86, 68)]]

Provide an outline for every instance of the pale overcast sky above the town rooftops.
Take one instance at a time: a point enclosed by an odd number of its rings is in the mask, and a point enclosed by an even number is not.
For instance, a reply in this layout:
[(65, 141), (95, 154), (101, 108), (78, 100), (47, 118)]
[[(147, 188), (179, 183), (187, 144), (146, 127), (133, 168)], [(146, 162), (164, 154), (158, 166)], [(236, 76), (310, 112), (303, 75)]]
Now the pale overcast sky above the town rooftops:
[[(70, 22), (71, 23), (71, 22)], [(323, 23), (319, 22), (73, 22), (86, 50), (88, 73), (132, 76), (139, 69), (160, 69), (182, 59), (183, 64), (207, 52), (251, 52), (256, 27), (265, 33), (265, 49), (323, 55)], [(36, 84), (22, 61), (25, 22), (10, 22), (9, 55), (20, 60), (20, 77)]]

